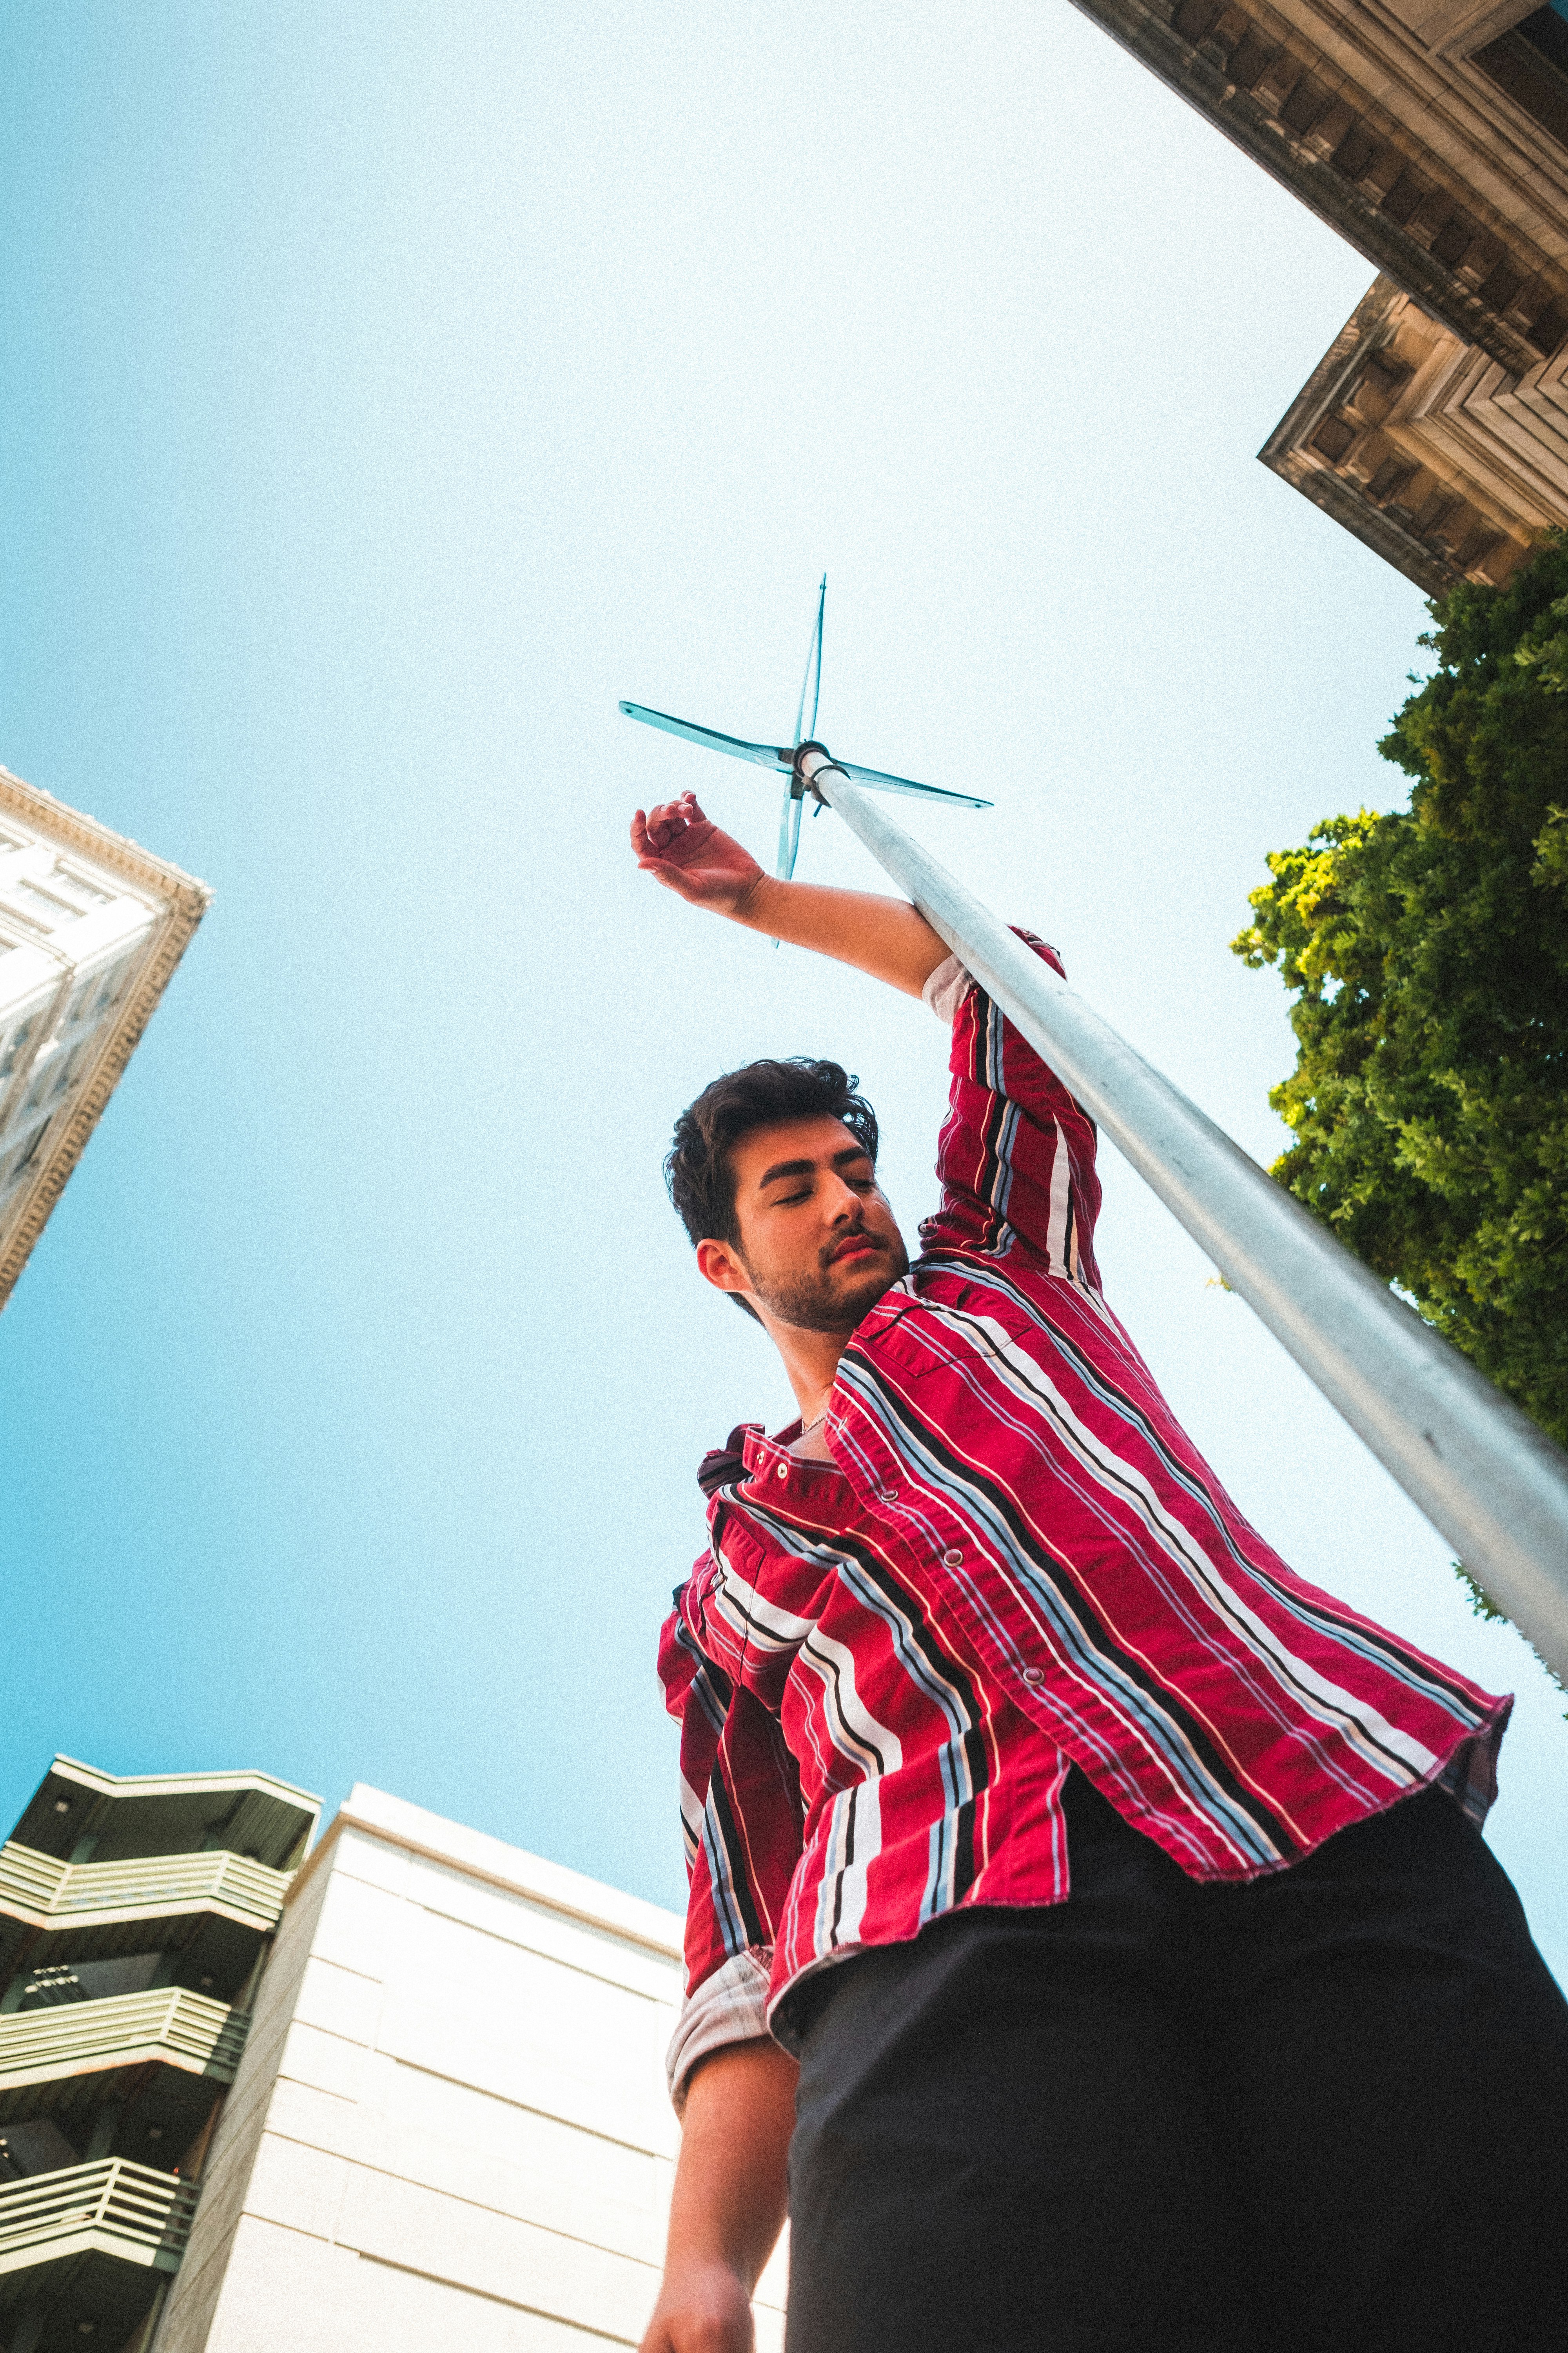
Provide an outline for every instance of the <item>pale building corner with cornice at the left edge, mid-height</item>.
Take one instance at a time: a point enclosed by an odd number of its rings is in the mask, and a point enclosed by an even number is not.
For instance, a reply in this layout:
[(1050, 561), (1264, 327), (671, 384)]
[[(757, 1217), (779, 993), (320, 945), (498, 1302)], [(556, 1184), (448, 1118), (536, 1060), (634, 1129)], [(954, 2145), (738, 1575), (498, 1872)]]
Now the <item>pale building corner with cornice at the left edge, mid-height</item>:
[(209, 896), (0, 769), (0, 1306)]

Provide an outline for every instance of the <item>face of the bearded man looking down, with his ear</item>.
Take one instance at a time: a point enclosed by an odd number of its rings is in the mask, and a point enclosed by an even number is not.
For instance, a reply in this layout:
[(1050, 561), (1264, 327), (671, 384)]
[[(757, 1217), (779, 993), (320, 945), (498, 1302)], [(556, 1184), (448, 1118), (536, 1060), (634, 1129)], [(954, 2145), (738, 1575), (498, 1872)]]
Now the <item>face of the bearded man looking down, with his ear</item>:
[(703, 1242), (719, 1289), (745, 1289), (778, 1322), (853, 1332), (910, 1266), (865, 1146), (842, 1120), (757, 1127), (729, 1155), (741, 1242)]

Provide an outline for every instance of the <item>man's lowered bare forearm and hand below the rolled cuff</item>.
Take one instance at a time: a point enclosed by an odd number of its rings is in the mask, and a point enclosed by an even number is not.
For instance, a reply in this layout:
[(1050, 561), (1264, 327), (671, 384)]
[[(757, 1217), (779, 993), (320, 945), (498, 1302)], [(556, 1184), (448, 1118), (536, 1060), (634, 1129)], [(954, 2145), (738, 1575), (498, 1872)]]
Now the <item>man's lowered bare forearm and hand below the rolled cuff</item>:
[(644, 2353), (748, 2353), (752, 2287), (785, 2219), (795, 2078), (776, 2042), (736, 2042), (691, 2078)]

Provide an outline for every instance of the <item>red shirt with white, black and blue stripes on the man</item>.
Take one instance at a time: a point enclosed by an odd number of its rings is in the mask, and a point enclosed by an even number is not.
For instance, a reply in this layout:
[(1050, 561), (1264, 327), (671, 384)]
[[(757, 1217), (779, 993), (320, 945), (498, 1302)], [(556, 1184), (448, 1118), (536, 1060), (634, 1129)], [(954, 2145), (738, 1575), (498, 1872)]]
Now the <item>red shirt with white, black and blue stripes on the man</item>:
[(961, 998), (922, 1254), (844, 1351), (832, 1461), (790, 1454), (797, 1426), (710, 1457), (710, 1551), (663, 1628), (677, 2099), (802, 1972), (1063, 1901), (1070, 1765), (1204, 1880), (1427, 1781), (1476, 1819), (1495, 1791), (1509, 1701), (1244, 1520), (1100, 1297), (1093, 1122), (957, 965), (933, 984)]

